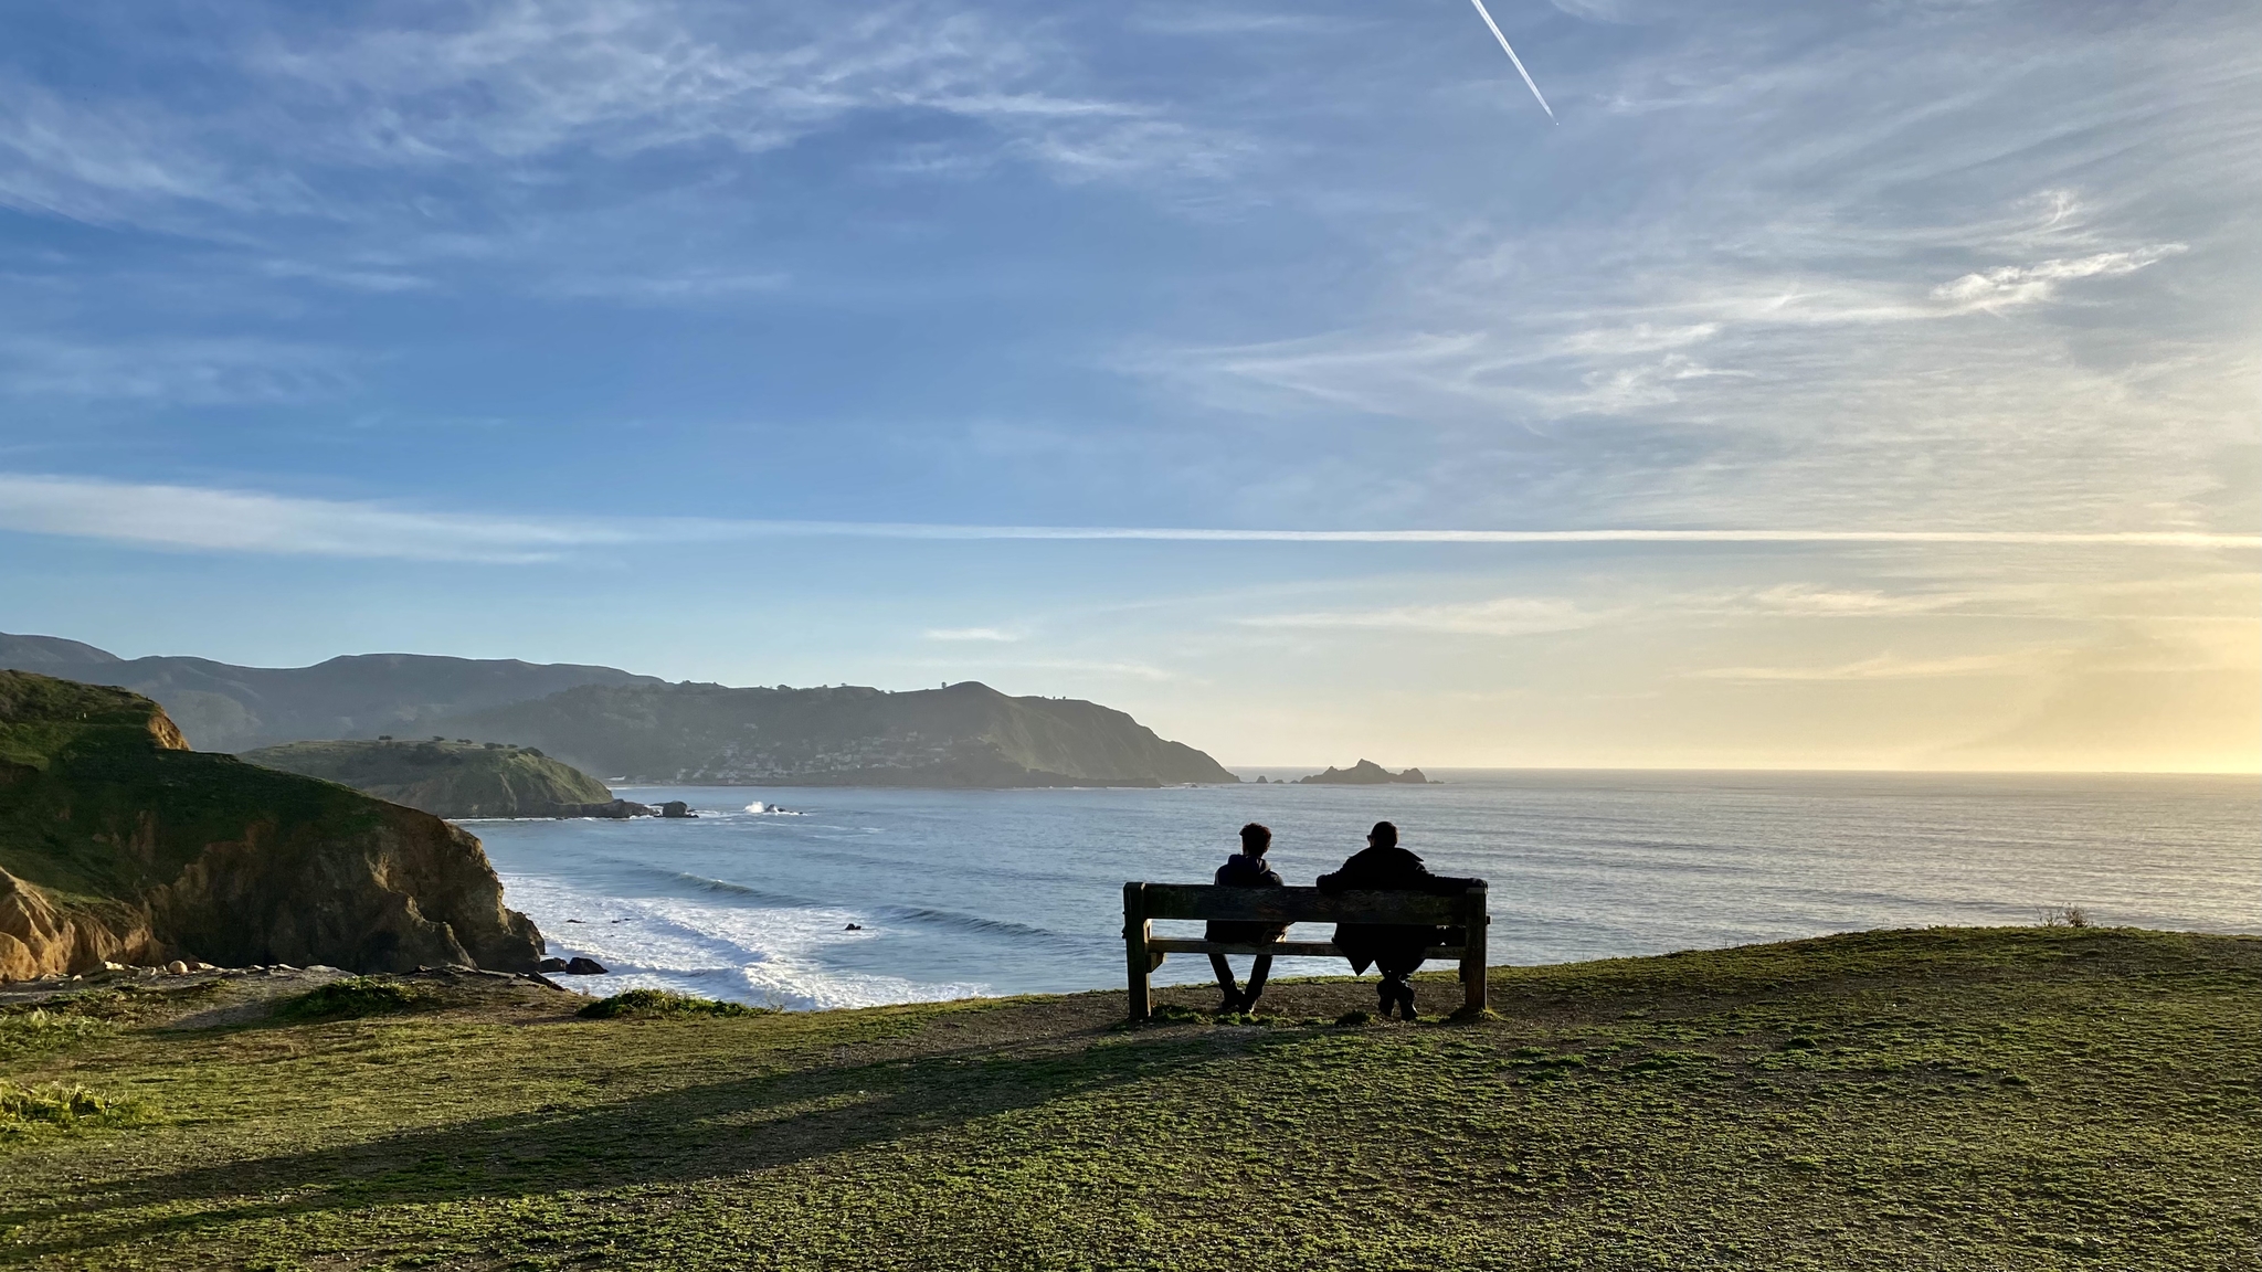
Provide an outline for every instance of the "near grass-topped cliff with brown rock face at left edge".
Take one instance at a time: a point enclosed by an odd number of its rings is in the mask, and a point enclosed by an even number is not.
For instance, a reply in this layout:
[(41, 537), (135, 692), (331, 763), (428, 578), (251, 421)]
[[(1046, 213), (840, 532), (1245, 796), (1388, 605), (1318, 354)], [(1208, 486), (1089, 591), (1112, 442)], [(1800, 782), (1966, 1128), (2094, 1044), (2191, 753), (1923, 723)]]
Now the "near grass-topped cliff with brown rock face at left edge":
[(0, 978), (102, 960), (534, 971), (480, 840), (190, 751), (149, 699), (0, 672)]

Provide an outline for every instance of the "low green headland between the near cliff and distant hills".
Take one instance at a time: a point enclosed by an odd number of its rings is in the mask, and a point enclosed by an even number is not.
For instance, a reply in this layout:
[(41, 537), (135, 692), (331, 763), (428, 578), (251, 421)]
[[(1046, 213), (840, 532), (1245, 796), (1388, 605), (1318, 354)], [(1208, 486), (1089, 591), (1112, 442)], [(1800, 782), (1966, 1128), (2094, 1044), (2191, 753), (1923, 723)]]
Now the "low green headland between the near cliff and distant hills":
[(586, 772), (502, 742), (287, 742), (242, 758), (434, 817), (584, 817), (590, 806), (613, 801)]

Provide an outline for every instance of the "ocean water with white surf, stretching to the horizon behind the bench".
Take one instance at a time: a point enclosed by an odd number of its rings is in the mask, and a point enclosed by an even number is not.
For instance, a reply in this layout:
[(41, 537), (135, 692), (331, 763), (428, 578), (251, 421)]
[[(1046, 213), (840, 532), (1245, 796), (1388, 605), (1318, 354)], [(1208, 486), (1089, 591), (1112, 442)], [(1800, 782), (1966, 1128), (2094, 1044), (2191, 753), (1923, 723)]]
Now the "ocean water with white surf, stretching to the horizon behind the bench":
[[(633, 788), (699, 819), (470, 831), (552, 953), (613, 971), (579, 989), (783, 1007), (1120, 985), (1122, 883), (1206, 883), (1251, 819), (1289, 883), (1398, 822), (1432, 869), (1491, 883), (1502, 964), (2031, 923), (2067, 903), (2097, 923), (2262, 932), (2262, 781), (2246, 776), (1432, 776), (1445, 785)], [(1172, 957), (1158, 980), (1208, 966)]]

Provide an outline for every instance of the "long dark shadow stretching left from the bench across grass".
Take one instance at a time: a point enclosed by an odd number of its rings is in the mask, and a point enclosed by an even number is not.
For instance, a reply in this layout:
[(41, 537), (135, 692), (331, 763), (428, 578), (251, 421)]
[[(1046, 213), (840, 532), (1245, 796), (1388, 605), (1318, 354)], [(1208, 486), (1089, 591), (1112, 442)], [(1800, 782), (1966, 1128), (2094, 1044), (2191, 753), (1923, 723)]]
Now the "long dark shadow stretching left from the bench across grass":
[[(1285, 1039), (1253, 1037), (1235, 1050), (1278, 1041)], [(20, 1261), (84, 1249), (88, 1240), (109, 1245), (321, 1211), (683, 1184), (792, 1166), (1217, 1059), (1224, 1052), (1194, 1037), (1043, 1057), (961, 1052), (817, 1066), (152, 1175), (86, 1188), (52, 1206), (0, 1211), (0, 1231), (66, 1215), (93, 1220), (50, 1243), (14, 1243), (7, 1261)], [(143, 1222), (102, 1218), (183, 1204), (192, 1211)]]

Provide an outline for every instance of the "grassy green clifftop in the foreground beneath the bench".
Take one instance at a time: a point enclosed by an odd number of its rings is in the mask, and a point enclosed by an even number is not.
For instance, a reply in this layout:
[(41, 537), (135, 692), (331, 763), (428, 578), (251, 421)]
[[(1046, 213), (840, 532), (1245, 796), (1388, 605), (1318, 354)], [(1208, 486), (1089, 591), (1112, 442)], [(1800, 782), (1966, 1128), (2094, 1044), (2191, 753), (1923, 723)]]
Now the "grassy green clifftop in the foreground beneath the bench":
[(2002, 928), (1495, 969), (1468, 1023), (120, 1023), (0, 1064), (145, 1111), (0, 1141), (0, 1265), (2253, 1270), (2257, 991), (2262, 939)]

